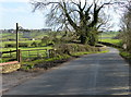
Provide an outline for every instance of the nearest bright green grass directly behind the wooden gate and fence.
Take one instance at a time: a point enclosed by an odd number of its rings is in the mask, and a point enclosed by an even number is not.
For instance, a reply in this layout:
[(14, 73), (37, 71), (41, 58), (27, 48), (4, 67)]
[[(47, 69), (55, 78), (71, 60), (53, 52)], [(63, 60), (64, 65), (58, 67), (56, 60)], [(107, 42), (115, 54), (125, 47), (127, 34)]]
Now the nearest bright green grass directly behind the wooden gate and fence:
[[(36, 48), (20, 48), (23, 50), (22, 53), (22, 59), (34, 59), (34, 58), (45, 58), (47, 57), (46, 50), (35, 50), (35, 49), (52, 49), (52, 47), (36, 47)], [(34, 49), (34, 50), (33, 50)], [(4, 48), (2, 51), (10, 51), (10, 50), (15, 50), (15, 48)], [(33, 51), (24, 51), (24, 50), (33, 50)], [(1, 62), (8, 62), (11, 59), (16, 59), (16, 52), (10, 53), (3, 53)]]

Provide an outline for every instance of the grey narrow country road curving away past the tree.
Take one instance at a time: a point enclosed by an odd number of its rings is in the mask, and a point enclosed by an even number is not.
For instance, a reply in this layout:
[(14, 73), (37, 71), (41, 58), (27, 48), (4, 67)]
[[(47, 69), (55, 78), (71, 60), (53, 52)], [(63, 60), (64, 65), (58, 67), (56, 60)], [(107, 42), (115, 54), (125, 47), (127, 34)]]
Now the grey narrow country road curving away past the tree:
[(3, 95), (129, 95), (129, 64), (109, 50), (63, 63)]

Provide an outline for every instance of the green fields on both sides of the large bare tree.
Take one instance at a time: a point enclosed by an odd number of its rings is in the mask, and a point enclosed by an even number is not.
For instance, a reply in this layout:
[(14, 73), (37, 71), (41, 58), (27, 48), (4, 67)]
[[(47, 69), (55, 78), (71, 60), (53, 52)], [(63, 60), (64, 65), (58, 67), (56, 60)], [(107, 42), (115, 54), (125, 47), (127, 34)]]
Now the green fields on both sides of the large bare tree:
[[(106, 43), (111, 43), (115, 45), (120, 44), (120, 39), (114, 39), (119, 33), (118, 32), (111, 32), (111, 33), (103, 33), (99, 35), (99, 41), (106, 41)], [(14, 33), (3, 33), (2, 35), (2, 48), (1, 51), (12, 51), (16, 50), (15, 47), (5, 47), (7, 45), (14, 45), (15, 46), (15, 34)], [(41, 43), (41, 37), (47, 36), (48, 33), (44, 32), (34, 32), (29, 35), (29, 38), (25, 38), (23, 33), (19, 34), (19, 43), (27, 44), (27, 47), (20, 47), (22, 51), (22, 60), (33, 60), (36, 58), (47, 58), (48, 57), (48, 51), (46, 49), (52, 49), (52, 47), (46, 47), (44, 44), (43, 46), (37, 46), (33, 47), (33, 43)], [(60, 37), (60, 35), (58, 35)], [(34, 40), (32, 40), (35, 38)], [(14, 39), (14, 40), (9, 40), (9, 39)], [(39, 50), (38, 50), (39, 49)], [(11, 52), (11, 53), (4, 53), (2, 54), (2, 59), (0, 60), (1, 62), (8, 62), (11, 60), (16, 60), (16, 52)]]

